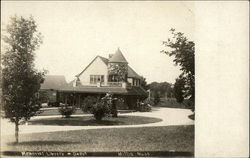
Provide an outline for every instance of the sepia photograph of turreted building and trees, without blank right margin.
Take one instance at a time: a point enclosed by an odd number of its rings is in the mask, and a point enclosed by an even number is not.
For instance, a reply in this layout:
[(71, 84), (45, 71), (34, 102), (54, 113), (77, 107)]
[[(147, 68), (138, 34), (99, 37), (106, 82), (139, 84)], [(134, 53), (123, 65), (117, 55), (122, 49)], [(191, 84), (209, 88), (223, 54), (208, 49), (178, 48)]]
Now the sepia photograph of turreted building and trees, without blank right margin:
[(1, 157), (194, 157), (195, 3), (1, 1)]

